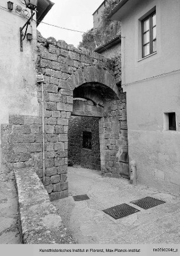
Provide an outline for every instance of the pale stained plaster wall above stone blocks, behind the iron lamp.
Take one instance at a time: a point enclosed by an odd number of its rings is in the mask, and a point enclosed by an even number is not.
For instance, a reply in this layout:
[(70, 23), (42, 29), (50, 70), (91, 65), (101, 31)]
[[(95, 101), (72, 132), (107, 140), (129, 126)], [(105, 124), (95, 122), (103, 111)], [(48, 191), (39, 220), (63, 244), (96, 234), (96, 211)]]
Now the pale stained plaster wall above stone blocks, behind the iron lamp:
[[(36, 22), (32, 21), (28, 28), (33, 41), (25, 38), (21, 52), (19, 28), (26, 19), (18, 15), (15, 8), (20, 5), (25, 9), (25, 5), (18, 0), (13, 2), (13, 11), (0, 7), (0, 125), (8, 124), (9, 115), (39, 114), (35, 72)], [(7, 1), (1, 0), (0, 5), (7, 8)]]

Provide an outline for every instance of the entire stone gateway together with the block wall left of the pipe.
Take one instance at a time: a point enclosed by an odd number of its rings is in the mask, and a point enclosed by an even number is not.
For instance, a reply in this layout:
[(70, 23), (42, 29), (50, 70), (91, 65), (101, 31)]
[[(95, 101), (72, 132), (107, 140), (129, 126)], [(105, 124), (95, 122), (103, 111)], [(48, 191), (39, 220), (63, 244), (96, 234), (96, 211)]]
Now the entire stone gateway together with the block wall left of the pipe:
[[(45, 188), (51, 200), (68, 197), (68, 122), (71, 115), (99, 118), (102, 175), (129, 178), (126, 95), (120, 57), (106, 59), (64, 41), (38, 35), (36, 69), (44, 75)], [(41, 105), (41, 86), (37, 87)], [(85, 99), (91, 104), (86, 104)], [(42, 179), (42, 117), (11, 115), (2, 125), (2, 164), (34, 167)]]

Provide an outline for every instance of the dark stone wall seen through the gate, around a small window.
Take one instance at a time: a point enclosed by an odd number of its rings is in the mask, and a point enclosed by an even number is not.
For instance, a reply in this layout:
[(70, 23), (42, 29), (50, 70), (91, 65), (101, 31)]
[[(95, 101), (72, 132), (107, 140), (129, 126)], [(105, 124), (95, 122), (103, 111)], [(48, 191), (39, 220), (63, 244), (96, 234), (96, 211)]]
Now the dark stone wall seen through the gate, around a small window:
[[(83, 132), (92, 132), (92, 149), (83, 148)], [(99, 118), (71, 117), (68, 129), (68, 164), (101, 171)]]

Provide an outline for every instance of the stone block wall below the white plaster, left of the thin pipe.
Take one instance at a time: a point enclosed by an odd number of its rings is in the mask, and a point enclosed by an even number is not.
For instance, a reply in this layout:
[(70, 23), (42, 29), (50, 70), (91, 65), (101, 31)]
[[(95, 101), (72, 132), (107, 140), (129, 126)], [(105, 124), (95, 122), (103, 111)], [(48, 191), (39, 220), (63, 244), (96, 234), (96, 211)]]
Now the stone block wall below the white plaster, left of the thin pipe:
[(14, 178), (15, 168), (34, 166), (42, 177), (42, 118), (10, 115), (1, 125), (1, 177)]

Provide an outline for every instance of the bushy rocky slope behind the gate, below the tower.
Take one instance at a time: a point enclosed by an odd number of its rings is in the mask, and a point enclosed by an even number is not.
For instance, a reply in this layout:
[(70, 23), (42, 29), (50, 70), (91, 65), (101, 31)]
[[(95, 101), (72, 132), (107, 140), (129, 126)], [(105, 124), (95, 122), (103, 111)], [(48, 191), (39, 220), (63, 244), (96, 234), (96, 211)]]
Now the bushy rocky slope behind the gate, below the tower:
[(91, 51), (94, 51), (101, 45), (106, 44), (117, 35), (121, 35), (121, 22), (111, 21), (108, 15), (114, 9), (115, 5), (119, 3), (119, 0), (107, 0), (107, 5), (102, 11), (102, 22), (98, 28), (90, 29), (82, 35), (82, 42), (79, 43), (79, 47), (84, 47)]

